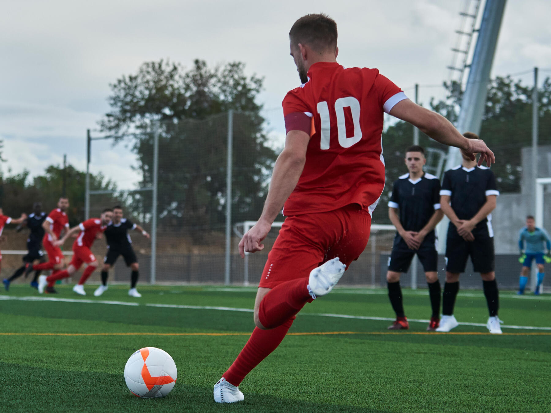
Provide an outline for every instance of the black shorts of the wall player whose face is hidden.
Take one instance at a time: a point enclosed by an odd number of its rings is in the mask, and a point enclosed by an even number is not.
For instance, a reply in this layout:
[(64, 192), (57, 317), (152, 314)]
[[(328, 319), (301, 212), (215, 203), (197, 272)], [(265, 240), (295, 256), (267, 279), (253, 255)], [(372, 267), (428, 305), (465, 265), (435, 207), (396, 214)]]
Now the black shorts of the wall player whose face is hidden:
[(475, 234), (474, 241), (469, 242), (458, 235), (447, 237), (447, 271), (464, 273), (469, 256), (471, 256), (475, 273), (491, 273), (495, 268), (494, 238)]

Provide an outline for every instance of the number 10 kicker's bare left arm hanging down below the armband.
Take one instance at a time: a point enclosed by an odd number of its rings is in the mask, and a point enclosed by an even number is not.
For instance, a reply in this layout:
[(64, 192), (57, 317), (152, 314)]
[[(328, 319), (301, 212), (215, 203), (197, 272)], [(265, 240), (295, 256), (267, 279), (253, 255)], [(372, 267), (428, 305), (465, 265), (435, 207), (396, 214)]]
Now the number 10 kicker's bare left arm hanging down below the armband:
[(283, 204), (299, 182), (306, 162), (306, 149), (310, 136), (302, 131), (289, 131), (285, 137), (285, 148), (279, 154), (272, 172), (268, 196), (262, 215), (255, 226), (245, 233), (239, 242), (239, 254), (257, 252), (264, 248), (262, 241), (268, 235), (272, 222), (283, 208)]

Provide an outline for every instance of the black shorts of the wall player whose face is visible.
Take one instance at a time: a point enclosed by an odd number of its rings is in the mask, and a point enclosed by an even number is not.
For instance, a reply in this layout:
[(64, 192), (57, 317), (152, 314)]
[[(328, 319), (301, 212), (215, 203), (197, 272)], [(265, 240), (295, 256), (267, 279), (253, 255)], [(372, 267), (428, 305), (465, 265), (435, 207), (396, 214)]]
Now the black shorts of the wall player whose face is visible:
[(394, 243), (392, 253), (388, 259), (388, 270), (396, 273), (407, 273), (412, 259), (417, 254), (419, 261), (423, 264), (425, 273), (436, 271), (438, 268), (438, 252), (436, 251), (435, 240), (424, 240), (417, 251), (409, 249), (406, 242), (399, 238)]

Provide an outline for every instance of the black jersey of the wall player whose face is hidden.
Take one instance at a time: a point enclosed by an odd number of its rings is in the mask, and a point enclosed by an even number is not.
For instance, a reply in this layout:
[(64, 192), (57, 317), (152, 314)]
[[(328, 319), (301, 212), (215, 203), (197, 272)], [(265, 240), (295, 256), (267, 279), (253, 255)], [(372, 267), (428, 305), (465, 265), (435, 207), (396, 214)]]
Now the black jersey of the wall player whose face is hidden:
[[(478, 213), (486, 203), (489, 195), (499, 195), (495, 183), (494, 172), (485, 166), (473, 166), (466, 168), (456, 166), (444, 173), (440, 195), (449, 195), (451, 208), (458, 219), (468, 220)], [(450, 222), (450, 230), (456, 230), (455, 225)], [(473, 234), (488, 233), (494, 236), (491, 228), (491, 214), (478, 222)]]

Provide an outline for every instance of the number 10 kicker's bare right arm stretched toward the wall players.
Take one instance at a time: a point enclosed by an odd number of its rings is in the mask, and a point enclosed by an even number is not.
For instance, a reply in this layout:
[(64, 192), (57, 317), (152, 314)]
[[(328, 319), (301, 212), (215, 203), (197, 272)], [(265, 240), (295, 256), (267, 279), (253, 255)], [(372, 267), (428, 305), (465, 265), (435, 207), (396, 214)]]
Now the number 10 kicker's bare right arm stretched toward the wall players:
[(460, 148), (474, 161), (480, 154), (478, 166), (484, 161), (490, 166), (495, 163), (494, 153), (481, 139), (465, 138), (444, 116), (415, 104), (409, 99), (399, 101), (390, 110), (390, 115), (411, 123), (437, 142)]

